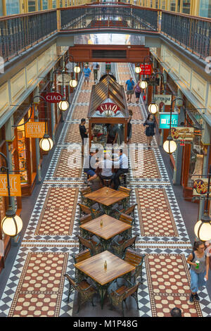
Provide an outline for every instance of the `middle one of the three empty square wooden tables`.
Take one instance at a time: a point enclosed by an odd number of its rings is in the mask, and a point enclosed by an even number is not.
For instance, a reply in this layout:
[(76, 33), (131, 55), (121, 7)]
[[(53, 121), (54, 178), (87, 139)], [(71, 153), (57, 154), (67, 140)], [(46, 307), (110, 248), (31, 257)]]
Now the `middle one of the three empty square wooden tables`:
[[(101, 221), (103, 222), (103, 225), (101, 225)], [(100, 239), (103, 249), (106, 250), (110, 246), (110, 242), (113, 237), (131, 229), (132, 225), (104, 214), (94, 220), (89, 220), (89, 222), (84, 225), (80, 225), (80, 227), (83, 230), (89, 231), (96, 235)]]

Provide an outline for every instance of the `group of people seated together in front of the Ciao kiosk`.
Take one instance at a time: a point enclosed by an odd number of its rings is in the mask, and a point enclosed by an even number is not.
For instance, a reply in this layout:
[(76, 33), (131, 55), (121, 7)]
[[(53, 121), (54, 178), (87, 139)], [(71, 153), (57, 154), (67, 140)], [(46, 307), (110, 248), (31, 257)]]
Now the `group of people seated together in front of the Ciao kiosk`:
[(106, 151), (102, 157), (98, 156), (98, 149), (91, 150), (84, 161), (84, 173), (87, 173), (89, 177), (87, 180), (84, 180), (84, 183), (87, 185), (91, 185), (92, 180), (99, 176), (102, 183), (103, 180), (111, 180), (114, 185), (113, 188), (118, 189), (120, 176), (123, 173), (128, 173), (128, 158), (122, 149), (117, 153)]

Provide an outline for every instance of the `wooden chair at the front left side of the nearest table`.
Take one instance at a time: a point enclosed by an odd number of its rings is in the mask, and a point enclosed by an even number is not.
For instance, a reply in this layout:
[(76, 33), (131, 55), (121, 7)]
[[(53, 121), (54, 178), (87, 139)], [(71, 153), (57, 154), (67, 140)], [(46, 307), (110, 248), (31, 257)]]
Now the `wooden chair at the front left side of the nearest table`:
[(64, 275), (68, 278), (69, 281), (69, 292), (68, 292), (68, 301), (70, 298), (70, 294), (73, 291), (78, 292), (78, 308), (77, 313), (79, 312), (80, 305), (84, 304), (86, 301), (91, 301), (92, 306), (94, 305), (93, 296), (96, 293), (96, 289), (90, 285), (86, 280), (82, 280), (81, 282), (75, 282), (67, 273)]

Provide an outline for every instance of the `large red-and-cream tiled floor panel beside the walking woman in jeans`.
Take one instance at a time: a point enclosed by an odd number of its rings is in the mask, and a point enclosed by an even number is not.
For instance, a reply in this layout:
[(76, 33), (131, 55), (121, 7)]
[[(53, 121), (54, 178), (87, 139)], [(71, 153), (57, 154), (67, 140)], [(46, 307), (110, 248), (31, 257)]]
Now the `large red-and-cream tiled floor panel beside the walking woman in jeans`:
[(189, 302), (190, 275), (184, 254), (147, 254), (148, 288), (153, 317), (169, 317), (177, 306), (184, 317), (201, 317), (198, 301)]

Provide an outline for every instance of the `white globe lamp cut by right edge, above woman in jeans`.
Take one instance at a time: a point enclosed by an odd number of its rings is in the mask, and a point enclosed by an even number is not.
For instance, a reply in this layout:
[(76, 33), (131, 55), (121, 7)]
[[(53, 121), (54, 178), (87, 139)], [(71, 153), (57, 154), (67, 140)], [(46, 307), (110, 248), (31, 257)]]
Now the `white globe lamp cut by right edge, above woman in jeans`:
[(201, 242), (207, 242), (207, 240), (211, 239), (211, 218), (207, 212), (205, 212), (201, 220), (198, 220), (196, 223), (194, 232)]

